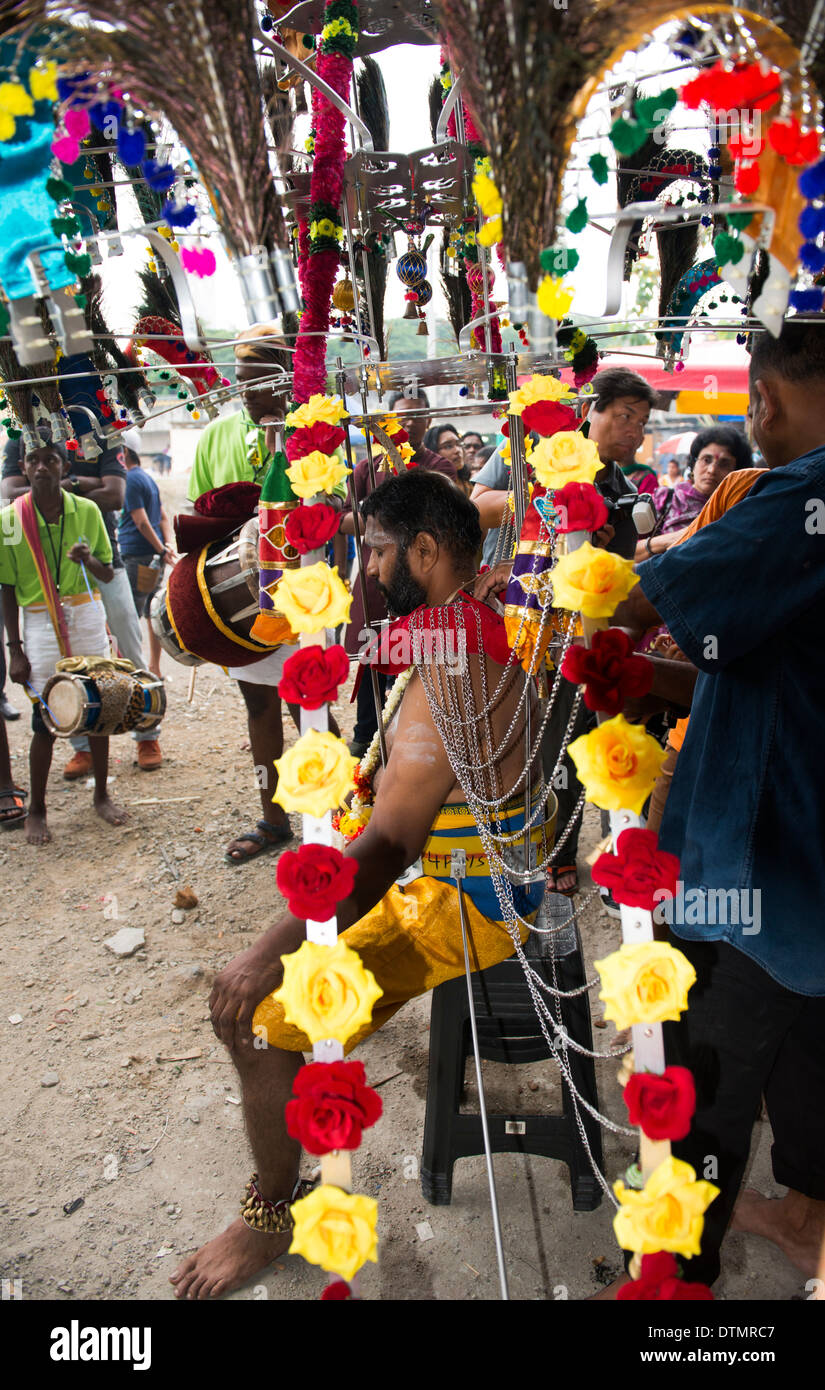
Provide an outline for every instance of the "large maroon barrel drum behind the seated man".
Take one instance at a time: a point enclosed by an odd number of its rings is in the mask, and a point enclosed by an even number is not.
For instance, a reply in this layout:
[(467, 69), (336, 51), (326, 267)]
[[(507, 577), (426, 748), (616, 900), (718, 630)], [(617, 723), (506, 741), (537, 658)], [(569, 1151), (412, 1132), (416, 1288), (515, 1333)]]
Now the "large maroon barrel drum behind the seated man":
[(153, 630), (176, 662), (190, 666), (196, 657), (217, 666), (250, 666), (274, 651), (250, 635), (258, 616), (257, 573), (254, 595), (251, 585), (253, 525), (257, 528), (254, 517), (232, 535), (185, 555), (169, 571), (162, 599), (161, 594), (153, 599)]

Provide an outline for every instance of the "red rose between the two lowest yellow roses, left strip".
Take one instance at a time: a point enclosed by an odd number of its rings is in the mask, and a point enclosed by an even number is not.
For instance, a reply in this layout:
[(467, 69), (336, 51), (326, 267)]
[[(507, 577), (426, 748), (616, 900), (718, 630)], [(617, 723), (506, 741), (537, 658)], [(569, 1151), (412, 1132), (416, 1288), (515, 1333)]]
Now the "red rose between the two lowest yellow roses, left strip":
[(310, 1062), (297, 1073), (285, 1108), (286, 1129), (308, 1154), (358, 1148), (361, 1131), (381, 1119), (381, 1095), (367, 1086), (362, 1062)]

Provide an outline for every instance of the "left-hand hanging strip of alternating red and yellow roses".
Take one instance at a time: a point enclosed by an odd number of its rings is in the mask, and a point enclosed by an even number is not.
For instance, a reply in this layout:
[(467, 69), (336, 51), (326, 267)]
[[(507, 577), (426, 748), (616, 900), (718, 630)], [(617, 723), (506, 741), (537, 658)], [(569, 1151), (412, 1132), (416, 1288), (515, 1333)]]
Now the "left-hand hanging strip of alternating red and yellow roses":
[[(331, 10), (335, 6), (326, 7), (328, 17)], [(344, 22), (340, 4), (338, 11), (338, 19)], [(346, 32), (335, 29), (336, 35)], [(314, 1061), (300, 1068), (293, 1083), (286, 1127), (307, 1152), (321, 1156), (321, 1186), (292, 1204), (289, 1252), (335, 1276), (322, 1298), (353, 1297), (346, 1282), (365, 1261), (378, 1258), (378, 1202), (349, 1188), (350, 1151), (358, 1148), (362, 1131), (382, 1112), (379, 1095), (365, 1084), (364, 1066), (343, 1061), (344, 1044), (369, 1022), (382, 991), (358, 954), (338, 935), (338, 905), (353, 892), (358, 866), (331, 842), (331, 813), (351, 785), (356, 759), (328, 727), (329, 702), (347, 677), (349, 660), (340, 646), (325, 649), (322, 634), (346, 620), (351, 599), (338, 571), (322, 559), (319, 548), (335, 534), (339, 514), (319, 493), (329, 491), (342, 471), (333, 450), (343, 439), (342, 421), (347, 418), (339, 399), (318, 393), (286, 417), (292, 431), (286, 442), (292, 459), (288, 474), (304, 500), (289, 513), (285, 530), (303, 556), (311, 560), (315, 553), (318, 560), (285, 570), (272, 592), (276, 609), (301, 644), (283, 666), (279, 695), (306, 712), (300, 738), (275, 763), (272, 799), (304, 816), (304, 844), (281, 855), (276, 874), (290, 912), (307, 922), (307, 940), (283, 958), (283, 983), (258, 1005), (253, 1020), (254, 1030), (262, 1033), (274, 999), (312, 1044)]]

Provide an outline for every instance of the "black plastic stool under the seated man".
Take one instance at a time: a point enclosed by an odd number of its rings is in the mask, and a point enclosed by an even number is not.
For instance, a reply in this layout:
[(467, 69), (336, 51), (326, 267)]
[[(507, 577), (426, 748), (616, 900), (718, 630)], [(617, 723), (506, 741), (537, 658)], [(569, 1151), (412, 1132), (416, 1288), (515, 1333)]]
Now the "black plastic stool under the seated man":
[[(550, 897), (550, 895), (549, 895)], [(556, 894), (551, 897), (557, 897)], [(565, 901), (565, 912), (569, 903)], [(564, 940), (562, 940), (564, 938)], [(560, 935), (531, 934), (525, 954), (538, 974), (553, 986), (551, 942), (556, 941), (556, 988), (576, 990), (585, 984), (582, 944), (575, 924)], [(561, 955), (561, 951), (565, 951)], [(503, 960), (472, 976), (475, 1017), (482, 1058), (490, 1062), (540, 1062), (551, 1058), (533, 1001), (518, 959)], [(554, 1017), (561, 1019), (571, 1038), (593, 1049), (588, 994), (554, 999), (543, 994)], [(453, 1193), (453, 1165), (457, 1158), (483, 1154), (481, 1115), (461, 1115), (461, 1091), (467, 1058), (472, 1056), (469, 1002), (464, 976), (439, 984), (432, 992), (429, 1033), (429, 1076), (421, 1191), (433, 1207), (447, 1207)], [(553, 1030), (547, 1024), (550, 1036)], [(593, 1059), (567, 1048), (567, 1063), (576, 1091), (597, 1108)], [(567, 1163), (574, 1211), (594, 1211), (601, 1188), (593, 1173), (564, 1079), (561, 1115), (489, 1115), (490, 1147), (494, 1154), (538, 1154)], [(590, 1152), (599, 1168), (601, 1131), (597, 1120), (579, 1105)]]

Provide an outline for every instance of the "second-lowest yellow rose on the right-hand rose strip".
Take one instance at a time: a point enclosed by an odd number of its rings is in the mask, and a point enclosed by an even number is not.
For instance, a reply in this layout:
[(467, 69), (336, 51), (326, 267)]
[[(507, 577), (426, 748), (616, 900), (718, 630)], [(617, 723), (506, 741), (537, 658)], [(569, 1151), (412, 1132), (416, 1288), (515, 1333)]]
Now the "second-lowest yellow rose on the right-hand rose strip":
[(617, 1029), (676, 1023), (696, 981), (688, 956), (667, 941), (625, 941), (594, 965), (601, 977), (599, 998), (604, 999), (604, 1017), (612, 1019)]

